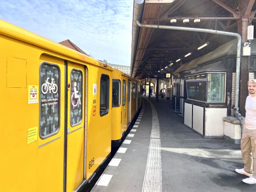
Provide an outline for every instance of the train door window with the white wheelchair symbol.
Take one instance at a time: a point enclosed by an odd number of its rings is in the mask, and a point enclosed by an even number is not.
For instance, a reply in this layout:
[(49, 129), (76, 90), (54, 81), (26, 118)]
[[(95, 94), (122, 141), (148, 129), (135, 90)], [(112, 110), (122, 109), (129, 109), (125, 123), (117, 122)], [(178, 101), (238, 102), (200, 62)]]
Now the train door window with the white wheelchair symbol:
[(72, 69), (70, 72), (70, 125), (81, 124), (83, 119), (83, 74), (82, 71)]

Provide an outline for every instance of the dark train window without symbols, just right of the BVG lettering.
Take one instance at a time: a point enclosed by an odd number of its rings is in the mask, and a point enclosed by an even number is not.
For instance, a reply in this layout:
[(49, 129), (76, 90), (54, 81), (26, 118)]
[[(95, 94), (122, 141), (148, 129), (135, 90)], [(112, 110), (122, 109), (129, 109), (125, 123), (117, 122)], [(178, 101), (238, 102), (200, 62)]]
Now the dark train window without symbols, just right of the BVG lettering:
[(100, 77), (100, 116), (108, 114), (109, 109), (109, 76)]

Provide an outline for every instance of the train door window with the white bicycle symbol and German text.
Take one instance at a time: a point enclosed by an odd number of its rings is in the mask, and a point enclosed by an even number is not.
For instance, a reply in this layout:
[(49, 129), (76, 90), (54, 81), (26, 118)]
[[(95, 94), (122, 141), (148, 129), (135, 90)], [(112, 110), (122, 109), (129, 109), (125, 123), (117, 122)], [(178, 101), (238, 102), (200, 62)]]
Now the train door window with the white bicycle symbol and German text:
[(39, 136), (46, 139), (60, 130), (60, 68), (42, 63), (39, 79)]

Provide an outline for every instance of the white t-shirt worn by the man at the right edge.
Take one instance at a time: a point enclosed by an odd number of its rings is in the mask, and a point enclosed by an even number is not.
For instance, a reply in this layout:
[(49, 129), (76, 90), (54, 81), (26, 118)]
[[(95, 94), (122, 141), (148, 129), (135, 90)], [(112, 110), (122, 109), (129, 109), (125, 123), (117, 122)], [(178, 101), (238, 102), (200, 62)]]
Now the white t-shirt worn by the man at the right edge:
[(256, 129), (256, 97), (247, 96), (245, 110), (245, 127), (247, 129)]

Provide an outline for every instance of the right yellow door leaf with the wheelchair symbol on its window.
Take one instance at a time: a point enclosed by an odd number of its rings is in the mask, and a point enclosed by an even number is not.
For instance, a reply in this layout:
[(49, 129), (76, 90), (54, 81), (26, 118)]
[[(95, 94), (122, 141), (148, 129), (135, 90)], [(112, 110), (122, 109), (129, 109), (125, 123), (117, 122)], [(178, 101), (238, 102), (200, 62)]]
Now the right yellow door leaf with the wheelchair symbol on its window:
[(83, 65), (68, 62), (67, 191), (73, 191), (85, 178), (85, 77)]

